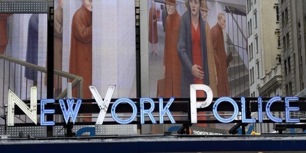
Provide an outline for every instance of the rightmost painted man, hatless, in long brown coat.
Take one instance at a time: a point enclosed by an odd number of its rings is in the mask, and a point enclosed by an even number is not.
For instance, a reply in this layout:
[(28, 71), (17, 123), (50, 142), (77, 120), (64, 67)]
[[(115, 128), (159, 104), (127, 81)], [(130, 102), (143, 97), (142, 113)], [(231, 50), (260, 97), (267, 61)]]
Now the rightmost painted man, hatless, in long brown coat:
[(226, 27), (226, 19), (223, 13), (218, 14), (218, 22), (211, 28), (213, 49), (216, 51), (215, 63), (218, 76), (218, 96), (229, 96), (229, 80), (227, 67), (227, 53), (224, 47), (223, 31)]

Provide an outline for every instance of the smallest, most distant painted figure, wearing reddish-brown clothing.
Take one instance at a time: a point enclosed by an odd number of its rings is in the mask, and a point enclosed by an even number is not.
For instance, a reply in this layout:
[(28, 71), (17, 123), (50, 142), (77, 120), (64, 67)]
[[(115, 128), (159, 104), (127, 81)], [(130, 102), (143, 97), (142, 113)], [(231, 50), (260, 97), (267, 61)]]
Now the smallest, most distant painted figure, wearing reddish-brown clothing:
[(156, 52), (156, 43), (158, 42), (157, 36), (157, 12), (155, 9), (155, 1), (152, 0), (152, 6), (149, 10), (149, 42), (151, 43), (151, 53)]

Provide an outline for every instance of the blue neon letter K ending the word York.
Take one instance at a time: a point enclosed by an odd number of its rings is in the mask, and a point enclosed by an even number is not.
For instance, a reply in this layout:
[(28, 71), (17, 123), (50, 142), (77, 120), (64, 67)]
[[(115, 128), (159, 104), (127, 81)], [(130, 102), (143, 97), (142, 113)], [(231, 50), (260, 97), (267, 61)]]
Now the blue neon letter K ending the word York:
[(171, 123), (174, 124), (176, 123), (170, 110), (169, 107), (172, 104), (172, 102), (174, 101), (175, 97), (171, 97), (169, 99), (169, 101), (167, 102), (165, 108), (163, 108), (163, 98), (160, 97), (159, 98), (159, 124), (164, 124), (164, 115), (167, 113), (169, 119), (171, 120)]

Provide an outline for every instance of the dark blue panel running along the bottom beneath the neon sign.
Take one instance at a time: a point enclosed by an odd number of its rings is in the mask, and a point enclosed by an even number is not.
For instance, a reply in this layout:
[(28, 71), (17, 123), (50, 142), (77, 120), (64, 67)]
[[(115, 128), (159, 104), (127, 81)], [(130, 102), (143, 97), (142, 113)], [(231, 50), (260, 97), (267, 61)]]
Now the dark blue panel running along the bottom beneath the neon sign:
[[(229, 138), (229, 137), (227, 137)], [(271, 138), (271, 137), (270, 137)], [(270, 139), (269, 138), (269, 139)], [(162, 138), (161, 138), (162, 139)], [(246, 151), (305, 151), (306, 140), (175, 140), (132, 142), (86, 142), (0, 144), (1, 153), (143, 153), (143, 152), (246, 152)]]

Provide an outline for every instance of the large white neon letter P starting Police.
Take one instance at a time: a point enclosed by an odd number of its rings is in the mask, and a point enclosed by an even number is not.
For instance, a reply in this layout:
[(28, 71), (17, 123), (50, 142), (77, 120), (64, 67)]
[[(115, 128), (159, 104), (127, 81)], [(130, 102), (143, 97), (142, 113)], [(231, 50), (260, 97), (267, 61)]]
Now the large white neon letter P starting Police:
[[(196, 101), (196, 91), (202, 90), (206, 93), (205, 101)], [(197, 123), (197, 108), (205, 108), (211, 104), (212, 91), (209, 86), (204, 84), (191, 84), (190, 85), (190, 105), (191, 105), (191, 123)]]

